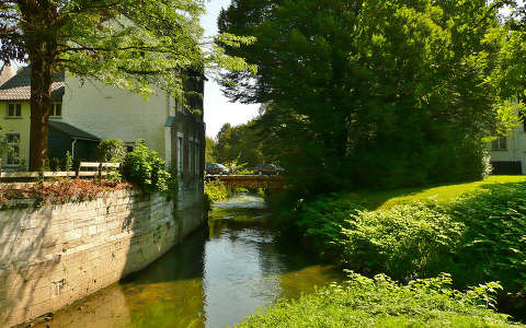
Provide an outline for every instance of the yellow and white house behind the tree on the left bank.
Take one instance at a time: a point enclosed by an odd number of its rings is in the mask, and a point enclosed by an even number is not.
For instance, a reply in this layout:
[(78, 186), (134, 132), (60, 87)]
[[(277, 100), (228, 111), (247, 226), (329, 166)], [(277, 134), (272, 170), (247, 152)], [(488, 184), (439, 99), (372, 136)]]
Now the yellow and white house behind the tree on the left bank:
[[(27, 169), (30, 157), (31, 67), (0, 72), (0, 132), (9, 143), (2, 168)], [(204, 77), (185, 81), (185, 91), (203, 94)], [(121, 139), (129, 150), (146, 140), (182, 178), (197, 178), (204, 169), (205, 125), (203, 97), (176, 101), (159, 89), (148, 99), (71, 74), (54, 75), (49, 117), (49, 157), (64, 159), (69, 151), (79, 161), (95, 160), (94, 150), (104, 139)], [(187, 108), (192, 108), (188, 110)]]

